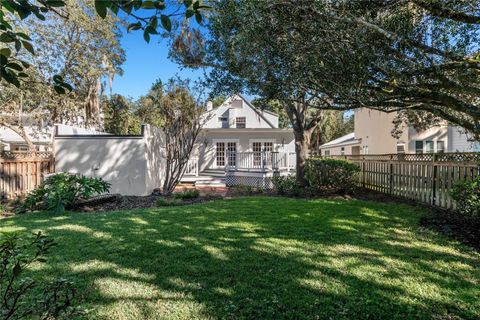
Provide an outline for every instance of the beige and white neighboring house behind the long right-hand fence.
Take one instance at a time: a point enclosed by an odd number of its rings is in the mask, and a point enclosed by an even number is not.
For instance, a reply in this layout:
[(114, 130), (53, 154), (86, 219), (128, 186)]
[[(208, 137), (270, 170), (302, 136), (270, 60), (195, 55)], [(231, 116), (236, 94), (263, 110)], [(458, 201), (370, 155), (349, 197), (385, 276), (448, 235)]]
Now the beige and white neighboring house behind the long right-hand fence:
[(355, 129), (343, 137), (320, 146), (322, 155), (392, 153), (477, 152), (480, 143), (471, 141), (462, 129), (448, 123), (418, 132), (404, 126), (397, 139), (392, 137), (395, 113), (371, 109), (355, 110)]

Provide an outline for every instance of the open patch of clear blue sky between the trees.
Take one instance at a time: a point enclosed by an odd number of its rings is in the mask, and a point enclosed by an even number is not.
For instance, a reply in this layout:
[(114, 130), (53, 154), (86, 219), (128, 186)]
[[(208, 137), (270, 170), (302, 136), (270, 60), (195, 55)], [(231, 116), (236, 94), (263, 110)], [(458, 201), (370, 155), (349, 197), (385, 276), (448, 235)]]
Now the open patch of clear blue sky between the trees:
[(127, 33), (124, 29), (121, 45), (126, 53), (126, 61), (122, 66), (123, 76), (116, 76), (113, 81), (113, 93), (137, 99), (148, 92), (156, 79), (166, 81), (179, 75), (181, 78), (197, 80), (203, 76), (201, 70), (182, 70), (170, 61), (168, 41), (160, 36), (152, 35), (150, 43), (147, 43), (141, 30)]

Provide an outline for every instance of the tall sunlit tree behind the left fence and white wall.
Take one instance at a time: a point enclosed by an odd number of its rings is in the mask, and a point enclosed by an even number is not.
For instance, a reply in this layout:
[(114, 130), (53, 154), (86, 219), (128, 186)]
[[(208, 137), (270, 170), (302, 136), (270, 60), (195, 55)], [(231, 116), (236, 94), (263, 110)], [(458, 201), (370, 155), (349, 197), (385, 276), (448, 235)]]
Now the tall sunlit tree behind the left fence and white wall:
[[(0, 82), (2, 124), (13, 128), (55, 122), (101, 129), (100, 95), (102, 80), (121, 73), (125, 60), (120, 46), (119, 19), (101, 19), (88, 0), (66, 0), (64, 14), (44, 13), (48, 22), (26, 19), (16, 30), (29, 34), (38, 54), (20, 52), (18, 58), (28, 61), (23, 86)], [(61, 75), (75, 90), (59, 95), (49, 79)], [(28, 84), (28, 85), (27, 85)]]

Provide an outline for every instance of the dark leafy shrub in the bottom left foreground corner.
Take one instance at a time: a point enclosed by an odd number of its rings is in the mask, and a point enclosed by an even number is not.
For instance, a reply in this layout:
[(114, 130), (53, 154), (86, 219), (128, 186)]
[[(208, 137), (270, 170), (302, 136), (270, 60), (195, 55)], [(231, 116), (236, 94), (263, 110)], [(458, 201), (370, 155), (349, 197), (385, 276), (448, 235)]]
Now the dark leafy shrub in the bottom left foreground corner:
[(75, 288), (65, 279), (42, 283), (23, 277), (35, 262), (55, 243), (40, 232), (27, 237), (19, 234), (0, 236), (0, 315), (2, 319), (58, 319), (80, 312), (73, 307)]

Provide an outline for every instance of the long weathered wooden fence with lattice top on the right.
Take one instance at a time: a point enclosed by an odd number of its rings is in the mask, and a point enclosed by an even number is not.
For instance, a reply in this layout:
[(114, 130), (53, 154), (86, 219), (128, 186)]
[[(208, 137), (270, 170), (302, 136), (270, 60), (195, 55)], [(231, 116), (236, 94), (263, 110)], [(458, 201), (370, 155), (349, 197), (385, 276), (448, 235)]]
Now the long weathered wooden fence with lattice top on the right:
[(389, 195), (452, 209), (449, 195), (460, 180), (480, 176), (480, 153), (332, 156), (360, 166), (360, 184)]

